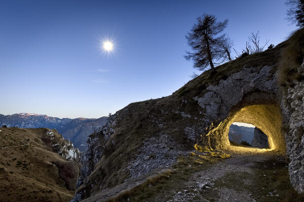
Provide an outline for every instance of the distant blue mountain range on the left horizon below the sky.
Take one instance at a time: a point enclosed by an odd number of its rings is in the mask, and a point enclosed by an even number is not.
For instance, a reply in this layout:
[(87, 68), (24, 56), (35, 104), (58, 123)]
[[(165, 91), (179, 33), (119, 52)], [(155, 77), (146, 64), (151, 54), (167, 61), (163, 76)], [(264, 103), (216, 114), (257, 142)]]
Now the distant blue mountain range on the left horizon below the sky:
[(81, 151), (87, 148), (88, 135), (106, 124), (108, 117), (99, 119), (57, 118), (47, 115), (20, 113), (13, 115), (0, 114), (0, 126), (19, 128), (50, 128), (56, 129), (65, 139), (70, 140), (74, 147)]

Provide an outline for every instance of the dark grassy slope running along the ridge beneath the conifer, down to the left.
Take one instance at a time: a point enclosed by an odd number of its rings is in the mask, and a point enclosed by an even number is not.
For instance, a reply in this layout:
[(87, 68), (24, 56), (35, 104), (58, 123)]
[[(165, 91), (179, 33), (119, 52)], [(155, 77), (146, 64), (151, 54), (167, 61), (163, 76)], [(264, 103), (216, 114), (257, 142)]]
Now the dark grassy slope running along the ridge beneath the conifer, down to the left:
[[(115, 142), (115, 145), (110, 148), (111, 153), (102, 158), (95, 171), (90, 175), (90, 179), (98, 178), (101, 180), (92, 190), (85, 185), (79, 190), (86, 188), (94, 195), (99, 191), (100, 186), (113, 187), (124, 182), (128, 177), (128, 172), (123, 171), (123, 169), (134, 158), (143, 140), (151, 136), (157, 136), (160, 133), (169, 134), (180, 145), (179, 148), (174, 149), (193, 148), (193, 144), (184, 138), (183, 129), (190, 122), (192, 126), (199, 126), (199, 121), (194, 120), (194, 117), (181, 118), (180, 114), (172, 113), (172, 111), (188, 112), (196, 114), (197, 118), (204, 118), (203, 115), (199, 115), (200, 109), (197, 108), (197, 103), (192, 97), (203, 95), (207, 91), (207, 86), (218, 84), (220, 79), (226, 79), (244, 67), (273, 65), (273, 73), (275, 73), (278, 70), (282, 49), (290, 46), (290, 43), (287, 40), (273, 49), (220, 65), (216, 68), (216, 74), (206, 71), (170, 96), (132, 103), (120, 110), (118, 112), (120, 119), (116, 120), (114, 126), (115, 134), (110, 139), (110, 141)], [(182, 103), (182, 99), (187, 99), (186, 105)], [(163, 127), (158, 127), (158, 123), (162, 123)], [(95, 184), (96, 182), (91, 183)]]

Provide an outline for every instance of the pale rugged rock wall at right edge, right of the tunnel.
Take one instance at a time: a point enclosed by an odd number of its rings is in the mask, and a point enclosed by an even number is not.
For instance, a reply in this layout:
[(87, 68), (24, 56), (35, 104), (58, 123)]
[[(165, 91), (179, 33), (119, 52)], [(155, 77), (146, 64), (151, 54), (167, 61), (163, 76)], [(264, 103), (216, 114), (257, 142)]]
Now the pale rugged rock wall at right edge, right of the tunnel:
[[(297, 69), (304, 76), (304, 63)], [(284, 114), (286, 150), (290, 158), (289, 176), (294, 188), (304, 192), (304, 80), (292, 81), (294, 85), (283, 94), (281, 108)]]

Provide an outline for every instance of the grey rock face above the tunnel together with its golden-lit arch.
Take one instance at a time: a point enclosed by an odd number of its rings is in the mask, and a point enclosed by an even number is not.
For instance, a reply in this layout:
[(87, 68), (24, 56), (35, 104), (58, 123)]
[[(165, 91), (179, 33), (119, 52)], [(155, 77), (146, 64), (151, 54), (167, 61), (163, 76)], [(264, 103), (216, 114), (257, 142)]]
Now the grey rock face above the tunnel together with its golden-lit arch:
[(225, 148), (230, 145), (229, 126), (233, 122), (245, 122), (255, 125), (268, 136), (270, 148), (285, 152), (280, 93), (272, 70), (270, 66), (259, 71), (244, 68), (220, 80), (218, 85), (208, 86), (209, 91), (203, 96), (194, 97), (212, 122), (199, 143), (211, 148)]

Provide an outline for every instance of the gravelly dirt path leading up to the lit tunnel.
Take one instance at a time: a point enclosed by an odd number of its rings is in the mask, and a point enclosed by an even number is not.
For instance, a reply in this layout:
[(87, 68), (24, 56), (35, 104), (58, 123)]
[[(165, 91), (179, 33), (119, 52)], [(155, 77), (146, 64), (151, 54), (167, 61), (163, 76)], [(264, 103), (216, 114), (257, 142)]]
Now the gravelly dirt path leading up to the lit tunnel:
[(184, 189), (177, 191), (168, 201), (256, 201), (257, 196), (248, 187), (257, 188), (255, 175), (258, 167), (279, 156), (272, 152), (233, 155), (195, 173)]

